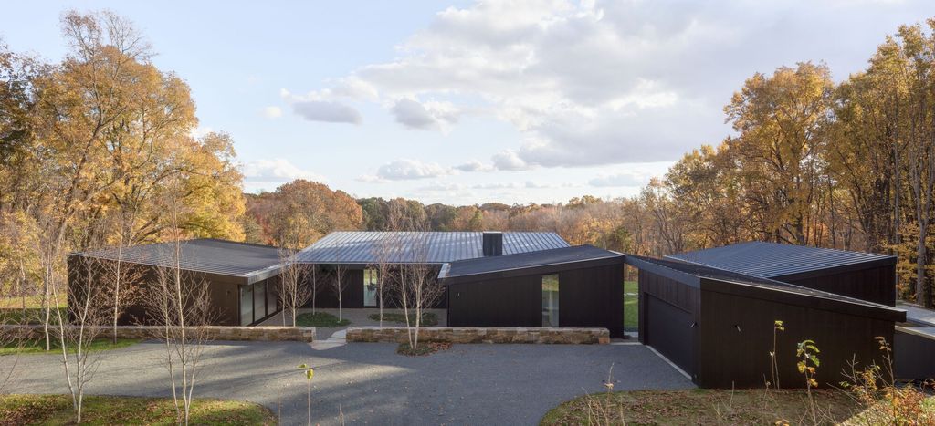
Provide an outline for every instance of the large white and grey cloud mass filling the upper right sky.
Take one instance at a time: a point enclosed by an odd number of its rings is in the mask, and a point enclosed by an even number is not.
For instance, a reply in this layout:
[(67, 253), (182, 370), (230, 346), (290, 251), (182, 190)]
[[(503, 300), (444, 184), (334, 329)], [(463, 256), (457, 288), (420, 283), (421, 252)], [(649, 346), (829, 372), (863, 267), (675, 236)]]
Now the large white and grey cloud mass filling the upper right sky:
[[(352, 70), (318, 94), (376, 103), (419, 129), (445, 122), (419, 100), (479, 111), (519, 133), (515, 146), (499, 149), (526, 167), (671, 161), (730, 133), (721, 110), (744, 78), (823, 59), (856, 64), (835, 68), (846, 75), (866, 66), (873, 46), (896, 30), (892, 22), (923, 8), (477, 2), (444, 9), (398, 46), (394, 60)], [(885, 24), (875, 20), (883, 12)], [(855, 48), (858, 41), (865, 47)]]

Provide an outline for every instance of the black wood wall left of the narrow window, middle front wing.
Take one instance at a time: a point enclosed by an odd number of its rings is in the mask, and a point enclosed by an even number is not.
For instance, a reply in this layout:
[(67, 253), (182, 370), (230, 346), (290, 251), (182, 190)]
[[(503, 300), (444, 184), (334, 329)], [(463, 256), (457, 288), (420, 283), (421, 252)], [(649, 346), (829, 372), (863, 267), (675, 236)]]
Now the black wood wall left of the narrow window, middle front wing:
[[(564, 283), (559, 284), (561, 289)], [(562, 320), (559, 294), (559, 320)], [(495, 278), (453, 284), (448, 288), (451, 327), (540, 327), (542, 277)]]

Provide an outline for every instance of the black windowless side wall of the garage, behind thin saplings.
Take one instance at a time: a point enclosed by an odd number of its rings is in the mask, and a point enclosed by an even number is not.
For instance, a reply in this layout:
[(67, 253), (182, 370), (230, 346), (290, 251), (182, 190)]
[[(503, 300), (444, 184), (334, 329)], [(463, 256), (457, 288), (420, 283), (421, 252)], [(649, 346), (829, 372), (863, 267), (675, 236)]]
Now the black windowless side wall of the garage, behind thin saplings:
[(893, 341), (892, 321), (723, 292), (701, 291), (700, 296), (696, 383), (703, 388), (756, 388), (771, 380), (775, 320), (782, 320), (785, 327), (777, 334), (776, 348), (779, 383), (784, 388), (804, 387), (796, 368), (798, 342), (811, 339), (821, 350), (816, 379), (828, 387), (845, 379), (841, 371), (849, 369), (852, 360), (863, 366), (882, 362), (874, 336)]

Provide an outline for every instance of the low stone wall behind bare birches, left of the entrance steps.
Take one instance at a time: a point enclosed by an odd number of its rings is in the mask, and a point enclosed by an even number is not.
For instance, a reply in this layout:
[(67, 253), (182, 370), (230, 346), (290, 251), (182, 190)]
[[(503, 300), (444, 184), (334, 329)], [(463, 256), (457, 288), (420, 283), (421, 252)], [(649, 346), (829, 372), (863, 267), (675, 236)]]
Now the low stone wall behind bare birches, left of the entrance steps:
[[(44, 336), (41, 325), (7, 325), (5, 330), (28, 334), (32, 337)], [(162, 327), (151, 325), (121, 325), (117, 327), (117, 336), (126, 339), (149, 339), (158, 335)], [(204, 327), (209, 340), (238, 341), (295, 341), (311, 342), (315, 338), (315, 327), (230, 327), (210, 325)], [(55, 330), (50, 329), (50, 333)], [(100, 334), (110, 336), (111, 328), (104, 327)]]

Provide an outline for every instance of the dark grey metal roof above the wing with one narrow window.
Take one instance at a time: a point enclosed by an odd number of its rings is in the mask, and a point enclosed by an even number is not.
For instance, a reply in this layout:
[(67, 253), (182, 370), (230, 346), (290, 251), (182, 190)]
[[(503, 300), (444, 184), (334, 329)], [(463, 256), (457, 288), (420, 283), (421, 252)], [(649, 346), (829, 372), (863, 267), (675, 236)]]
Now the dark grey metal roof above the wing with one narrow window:
[(619, 259), (621, 264), (624, 263), (624, 258), (620, 253), (605, 249), (597, 249), (596, 247), (587, 245), (573, 246), (447, 263), (447, 267), (442, 268), (439, 277), (479, 276), (502, 271), (614, 258)]

